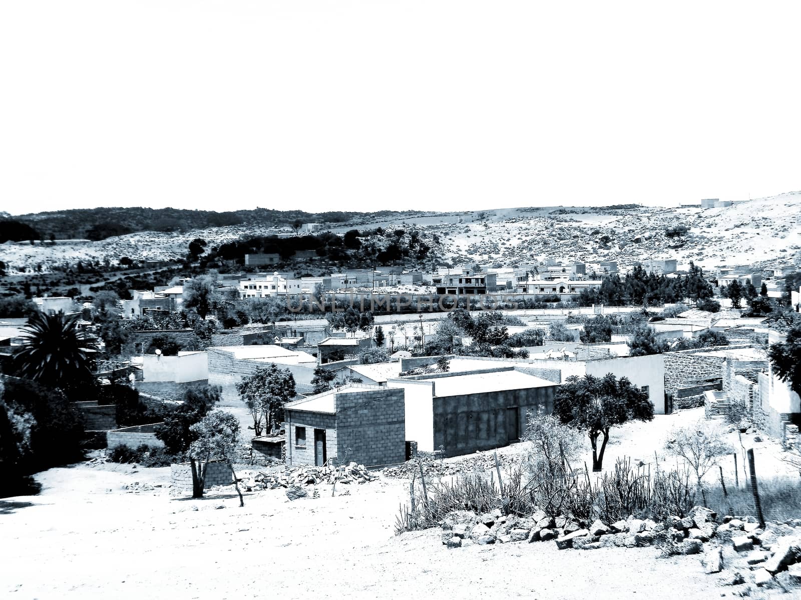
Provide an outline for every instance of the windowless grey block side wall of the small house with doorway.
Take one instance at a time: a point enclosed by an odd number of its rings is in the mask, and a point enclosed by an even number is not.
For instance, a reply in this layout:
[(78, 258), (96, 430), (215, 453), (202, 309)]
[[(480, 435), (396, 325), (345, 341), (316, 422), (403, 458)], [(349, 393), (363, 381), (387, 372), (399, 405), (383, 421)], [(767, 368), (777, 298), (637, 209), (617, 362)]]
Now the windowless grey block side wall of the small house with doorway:
[(340, 462), (365, 466), (406, 460), (405, 394), (399, 388), (336, 394), (336, 446)]

